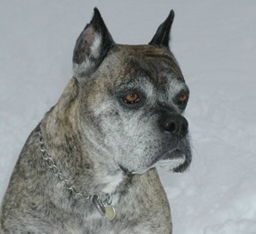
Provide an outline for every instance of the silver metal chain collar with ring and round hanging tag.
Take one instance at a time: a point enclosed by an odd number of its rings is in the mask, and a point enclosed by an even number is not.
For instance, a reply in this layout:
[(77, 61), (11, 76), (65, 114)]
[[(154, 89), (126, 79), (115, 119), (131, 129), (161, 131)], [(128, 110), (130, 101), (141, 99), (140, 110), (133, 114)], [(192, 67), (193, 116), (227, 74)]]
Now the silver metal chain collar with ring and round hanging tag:
[(116, 211), (112, 203), (112, 195), (106, 194), (104, 200), (100, 199), (98, 194), (86, 195), (79, 192), (72, 183), (64, 176), (56, 165), (55, 160), (52, 158), (50, 153), (46, 150), (41, 131), (39, 130), (39, 150), (42, 153), (42, 159), (46, 165), (51, 169), (52, 173), (57, 177), (60, 183), (62, 183), (68, 191), (71, 191), (75, 195), (79, 195), (83, 199), (90, 200), (92, 204), (97, 208), (101, 216), (105, 216), (109, 221), (112, 221), (116, 217)]

